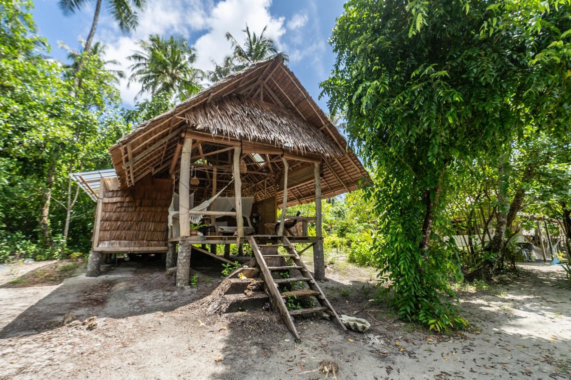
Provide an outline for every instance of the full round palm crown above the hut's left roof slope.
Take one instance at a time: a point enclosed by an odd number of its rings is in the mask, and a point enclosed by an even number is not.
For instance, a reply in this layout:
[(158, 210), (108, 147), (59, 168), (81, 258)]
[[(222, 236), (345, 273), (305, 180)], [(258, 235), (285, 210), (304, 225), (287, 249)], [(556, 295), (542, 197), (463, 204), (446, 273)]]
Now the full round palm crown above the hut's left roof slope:
[(148, 41), (138, 42), (140, 51), (127, 59), (134, 62), (129, 68), (131, 82), (141, 84), (139, 95), (150, 92), (151, 95), (167, 92), (179, 100), (184, 100), (202, 90), (201, 70), (193, 67), (196, 62), (196, 50), (188, 46), (182, 38), (164, 39), (158, 34), (149, 36)]

